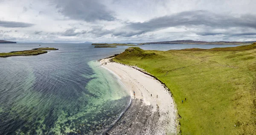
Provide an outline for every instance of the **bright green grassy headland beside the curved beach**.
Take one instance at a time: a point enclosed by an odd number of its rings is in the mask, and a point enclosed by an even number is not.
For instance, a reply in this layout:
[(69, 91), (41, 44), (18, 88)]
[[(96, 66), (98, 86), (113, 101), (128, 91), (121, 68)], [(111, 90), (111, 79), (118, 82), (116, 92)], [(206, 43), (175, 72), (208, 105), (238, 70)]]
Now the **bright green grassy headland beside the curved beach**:
[(143, 68), (166, 84), (181, 116), (182, 135), (255, 135), (255, 57), (253, 43), (209, 50), (133, 47), (113, 60)]

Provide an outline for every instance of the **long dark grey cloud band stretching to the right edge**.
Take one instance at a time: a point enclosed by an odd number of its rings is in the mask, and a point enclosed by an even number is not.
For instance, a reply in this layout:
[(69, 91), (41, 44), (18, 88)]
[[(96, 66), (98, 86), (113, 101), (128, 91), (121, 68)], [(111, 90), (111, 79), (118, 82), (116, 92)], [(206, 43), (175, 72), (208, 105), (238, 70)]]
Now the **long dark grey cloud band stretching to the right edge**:
[[(184, 11), (163, 17), (157, 17), (143, 23), (128, 23), (113, 30), (114, 36), (131, 37), (150, 31), (157, 31), (169, 27), (186, 28), (253, 28), (256, 29), (256, 16), (245, 14), (234, 17), (228, 14), (215, 14), (210, 11)], [(221, 33), (215, 33), (221, 34)], [(209, 35), (209, 33), (205, 34)]]

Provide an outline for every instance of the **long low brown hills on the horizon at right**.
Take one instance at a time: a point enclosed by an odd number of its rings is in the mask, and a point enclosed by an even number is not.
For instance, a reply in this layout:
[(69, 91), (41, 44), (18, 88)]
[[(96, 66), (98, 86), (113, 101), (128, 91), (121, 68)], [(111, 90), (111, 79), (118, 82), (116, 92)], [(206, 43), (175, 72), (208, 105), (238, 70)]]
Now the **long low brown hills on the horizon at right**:
[(256, 41), (250, 42), (230, 42), (230, 41), (218, 41), (218, 42), (207, 42), (207, 41), (194, 41), (194, 40), (174, 40), (174, 41), (163, 41), (163, 42), (145, 42), (138, 45), (146, 44), (199, 44), (199, 45), (249, 45)]

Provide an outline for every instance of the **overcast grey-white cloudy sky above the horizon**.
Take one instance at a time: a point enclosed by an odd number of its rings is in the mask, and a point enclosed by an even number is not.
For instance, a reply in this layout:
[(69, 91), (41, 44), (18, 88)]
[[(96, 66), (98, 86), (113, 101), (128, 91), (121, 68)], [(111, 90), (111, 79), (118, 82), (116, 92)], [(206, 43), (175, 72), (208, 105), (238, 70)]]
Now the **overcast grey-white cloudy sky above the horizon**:
[(16, 42), (255, 41), (256, 0), (0, 0)]

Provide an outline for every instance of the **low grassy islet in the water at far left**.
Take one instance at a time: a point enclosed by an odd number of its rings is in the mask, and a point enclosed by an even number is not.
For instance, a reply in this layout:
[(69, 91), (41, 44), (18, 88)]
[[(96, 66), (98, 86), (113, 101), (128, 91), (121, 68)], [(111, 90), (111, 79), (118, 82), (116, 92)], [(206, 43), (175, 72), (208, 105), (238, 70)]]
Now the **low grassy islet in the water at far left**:
[(32, 50), (25, 50), (25, 51), (12, 51), (9, 53), (0, 53), (0, 57), (39, 55), (39, 54), (47, 53), (47, 50), (58, 50), (58, 49), (56, 49), (56, 48), (34, 48)]

